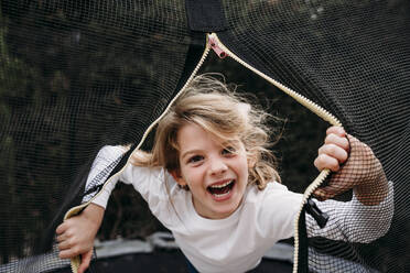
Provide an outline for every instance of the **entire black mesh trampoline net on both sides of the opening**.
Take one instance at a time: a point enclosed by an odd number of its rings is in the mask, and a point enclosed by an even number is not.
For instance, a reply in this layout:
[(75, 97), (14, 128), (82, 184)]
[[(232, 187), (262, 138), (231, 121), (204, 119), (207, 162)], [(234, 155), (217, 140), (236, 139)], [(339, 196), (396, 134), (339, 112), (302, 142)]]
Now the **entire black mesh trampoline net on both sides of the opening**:
[[(299, 270), (409, 272), (409, 2), (209, 1), (223, 13), (203, 32), (190, 30), (197, 12), (188, 24), (185, 10), (199, 6), (187, 2), (1, 1), (0, 272), (68, 265), (57, 256), (55, 227), (129, 155), (85, 188), (97, 152), (140, 142), (193, 72), (208, 31), (336, 116), (392, 182), (386, 234), (301, 240), (308, 260)], [(369, 232), (360, 221), (343, 225), (357, 237)]]

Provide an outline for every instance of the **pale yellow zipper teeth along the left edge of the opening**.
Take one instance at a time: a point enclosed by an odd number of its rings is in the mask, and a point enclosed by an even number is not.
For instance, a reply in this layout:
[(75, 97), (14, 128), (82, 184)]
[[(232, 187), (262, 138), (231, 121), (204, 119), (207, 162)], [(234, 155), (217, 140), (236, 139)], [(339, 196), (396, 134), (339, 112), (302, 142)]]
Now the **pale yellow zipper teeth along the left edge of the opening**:
[[(149, 135), (149, 133), (152, 131), (152, 129), (157, 125), (158, 122), (160, 122), (160, 120), (169, 112), (171, 106), (175, 102), (175, 100), (185, 91), (186, 87), (191, 84), (192, 79), (195, 77), (195, 75), (197, 74), (198, 69), (201, 68), (201, 66), (204, 64), (206, 57), (208, 56), (209, 54), (209, 51), (211, 51), (211, 46), (209, 46), (209, 43), (208, 43), (208, 37), (206, 37), (206, 47), (204, 50), (204, 53), (202, 54), (202, 57), (199, 59), (199, 62), (197, 63), (197, 65), (195, 66), (195, 69), (192, 72), (191, 76), (188, 77), (188, 79), (186, 80), (185, 85), (181, 88), (181, 90), (175, 95), (175, 97), (170, 101), (170, 103), (168, 105), (168, 107), (165, 108), (165, 110), (162, 112), (162, 114), (154, 121), (150, 124), (150, 127), (145, 130), (145, 132), (143, 133), (142, 135), (142, 139), (140, 141), (140, 143), (137, 145), (137, 148), (132, 151), (130, 157), (128, 159), (127, 163), (123, 165), (123, 167), (118, 171), (116, 174), (114, 174), (109, 179), (106, 181), (106, 183), (104, 184), (102, 188), (99, 190), (98, 194), (96, 194), (91, 199), (89, 199), (87, 203), (85, 204), (82, 204), (79, 206), (76, 206), (76, 207), (73, 207), (71, 208), (64, 216), (64, 220), (75, 216), (76, 214), (78, 214), (83, 208), (87, 207), (89, 204), (91, 204), (91, 201), (97, 198), (97, 196), (99, 196), (104, 188), (109, 184), (109, 183), (112, 183), (114, 178), (119, 176), (123, 171), (125, 168), (128, 166), (128, 164), (130, 164), (130, 160), (133, 155), (133, 153), (140, 149), (140, 146), (142, 145), (142, 143), (145, 141), (147, 136)], [(79, 263), (80, 263), (80, 258), (79, 255), (75, 256), (75, 258), (72, 258), (71, 259), (71, 267), (72, 267), (72, 271), (73, 273), (77, 273), (78, 272), (78, 266), (79, 266)]]

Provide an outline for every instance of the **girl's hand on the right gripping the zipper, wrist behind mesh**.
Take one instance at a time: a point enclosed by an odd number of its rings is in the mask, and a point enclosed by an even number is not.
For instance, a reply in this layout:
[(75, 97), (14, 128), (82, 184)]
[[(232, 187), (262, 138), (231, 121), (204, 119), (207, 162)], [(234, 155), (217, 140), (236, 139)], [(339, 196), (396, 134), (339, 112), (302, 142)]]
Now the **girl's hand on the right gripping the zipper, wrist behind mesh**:
[(341, 127), (331, 127), (326, 133), (314, 165), (319, 171), (328, 168), (334, 174), (328, 185), (317, 188), (313, 195), (325, 200), (353, 188), (364, 205), (382, 201), (388, 195), (387, 177), (371, 149)]

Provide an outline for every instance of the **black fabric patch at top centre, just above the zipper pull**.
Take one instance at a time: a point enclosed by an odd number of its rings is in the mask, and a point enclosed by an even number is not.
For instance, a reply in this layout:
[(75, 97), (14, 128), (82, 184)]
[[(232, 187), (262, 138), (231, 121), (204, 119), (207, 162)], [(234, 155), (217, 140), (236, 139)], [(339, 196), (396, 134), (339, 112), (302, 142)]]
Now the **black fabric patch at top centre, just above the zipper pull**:
[(190, 29), (199, 32), (219, 32), (227, 28), (220, 0), (186, 0)]

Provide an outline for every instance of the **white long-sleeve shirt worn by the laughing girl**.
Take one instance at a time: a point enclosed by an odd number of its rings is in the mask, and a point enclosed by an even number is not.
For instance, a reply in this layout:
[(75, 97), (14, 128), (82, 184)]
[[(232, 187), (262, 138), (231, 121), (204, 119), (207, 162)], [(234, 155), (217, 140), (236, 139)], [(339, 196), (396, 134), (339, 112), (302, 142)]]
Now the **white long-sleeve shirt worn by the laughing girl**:
[[(104, 148), (93, 170), (101, 170), (108, 159), (117, 159), (122, 152), (115, 146)], [(96, 175), (93, 170), (88, 181)], [(118, 179), (131, 184), (142, 195), (152, 214), (172, 231), (181, 250), (199, 272), (245, 272), (257, 266), (278, 240), (293, 236), (294, 218), (302, 201), (301, 194), (277, 182), (269, 183), (263, 190), (248, 186), (233, 215), (206, 219), (195, 211), (191, 192), (180, 188), (165, 170), (128, 165), (105, 185), (93, 203), (106, 207)], [(393, 211), (391, 184), (389, 192), (389, 197), (377, 206), (364, 206), (355, 196), (347, 203), (316, 201), (317, 207), (330, 215), (330, 220), (321, 229), (308, 216), (308, 236), (355, 242), (369, 242), (384, 236)], [(355, 228), (350, 228), (352, 222)]]

